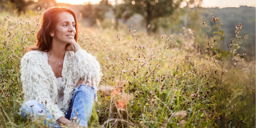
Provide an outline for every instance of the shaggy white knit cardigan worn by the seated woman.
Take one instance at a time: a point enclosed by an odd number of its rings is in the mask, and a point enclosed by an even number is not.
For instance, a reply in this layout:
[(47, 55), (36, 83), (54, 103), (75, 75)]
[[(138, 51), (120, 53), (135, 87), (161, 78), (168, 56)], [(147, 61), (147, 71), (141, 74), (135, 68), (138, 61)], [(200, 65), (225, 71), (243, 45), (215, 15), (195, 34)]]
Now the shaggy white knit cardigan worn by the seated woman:
[[(40, 51), (27, 52), (20, 62), (20, 80), (22, 82), (24, 103), (29, 100), (47, 101), (46, 110), (51, 112), (56, 121), (67, 113), (72, 100), (74, 88), (80, 79), (87, 80), (89, 86), (97, 91), (102, 71), (99, 62), (85, 50), (66, 51), (61, 75), (64, 90), (63, 110), (58, 107), (58, 81), (52, 67)], [(45, 103), (44, 103), (45, 106)]]

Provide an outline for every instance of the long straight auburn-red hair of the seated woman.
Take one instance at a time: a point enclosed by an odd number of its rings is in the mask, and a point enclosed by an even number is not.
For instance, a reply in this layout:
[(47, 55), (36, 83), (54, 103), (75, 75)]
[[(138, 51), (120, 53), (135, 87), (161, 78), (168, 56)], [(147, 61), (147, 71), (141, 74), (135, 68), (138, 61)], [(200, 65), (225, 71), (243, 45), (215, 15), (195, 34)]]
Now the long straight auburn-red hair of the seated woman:
[(55, 33), (56, 24), (58, 23), (58, 14), (60, 14), (61, 12), (69, 12), (71, 15), (73, 15), (76, 23), (75, 24), (76, 34), (74, 38), (75, 38), (75, 41), (77, 41), (78, 27), (77, 27), (77, 20), (76, 20), (75, 13), (67, 7), (51, 7), (44, 12), (41, 27), (36, 36), (37, 38), (36, 46), (29, 47), (26, 50), (26, 52), (29, 52), (31, 50), (49, 52), (52, 49), (52, 36), (50, 36), (50, 32), (54, 31)]

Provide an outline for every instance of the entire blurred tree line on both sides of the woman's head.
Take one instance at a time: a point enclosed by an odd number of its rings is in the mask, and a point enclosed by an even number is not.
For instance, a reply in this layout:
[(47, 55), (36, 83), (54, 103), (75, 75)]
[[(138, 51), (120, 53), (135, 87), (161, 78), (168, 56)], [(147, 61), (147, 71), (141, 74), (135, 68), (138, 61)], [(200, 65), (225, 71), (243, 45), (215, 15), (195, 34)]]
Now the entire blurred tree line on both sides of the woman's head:
[[(115, 18), (115, 28), (119, 27), (119, 20), (128, 20), (135, 14), (140, 14), (143, 17), (144, 27), (147, 32), (156, 32), (158, 25), (163, 17), (171, 17), (175, 11), (180, 9), (180, 6), (198, 7), (202, 0), (115, 0), (112, 3), (108, 0), (102, 0), (97, 5), (90, 3), (83, 6), (81, 10), (82, 17), (89, 20), (90, 26), (96, 23), (96, 20), (104, 20), (105, 12), (112, 11)], [(0, 0), (0, 11), (10, 10), (9, 8), (17, 9), (20, 12), (26, 12), (26, 8), (36, 4), (37, 7), (48, 8), (50, 5), (56, 5), (55, 0)], [(184, 9), (185, 9), (184, 8)], [(173, 19), (167, 19), (173, 20)], [(154, 26), (154, 27), (152, 27)]]

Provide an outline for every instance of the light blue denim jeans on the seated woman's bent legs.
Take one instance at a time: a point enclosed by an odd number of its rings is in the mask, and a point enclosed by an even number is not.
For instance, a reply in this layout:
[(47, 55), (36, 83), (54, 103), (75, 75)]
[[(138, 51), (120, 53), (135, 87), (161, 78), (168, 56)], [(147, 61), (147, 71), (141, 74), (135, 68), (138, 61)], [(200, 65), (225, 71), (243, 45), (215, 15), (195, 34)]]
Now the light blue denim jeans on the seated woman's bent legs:
[[(75, 87), (72, 101), (67, 114), (65, 114), (65, 118), (71, 121), (71, 117), (76, 117), (77, 111), (77, 123), (87, 128), (88, 120), (90, 119), (93, 109), (93, 101), (96, 99), (96, 96), (97, 93), (94, 92), (94, 87), (88, 87), (86, 84), (79, 84), (78, 87)], [(30, 115), (45, 118), (46, 115), (44, 105), (35, 100), (29, 100), (22, 105), (21, 115), (25, 120)], [(47, 111), (47, 118), (50, 120), (53, 118), (49, 111)], [(50, 122), (49, 120), (45, 119), (44, 123), (48, 124), (48, 127), (50, 128), (59, 128), (57, 122)]]

